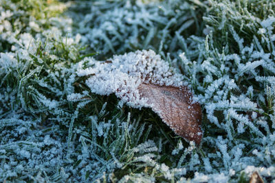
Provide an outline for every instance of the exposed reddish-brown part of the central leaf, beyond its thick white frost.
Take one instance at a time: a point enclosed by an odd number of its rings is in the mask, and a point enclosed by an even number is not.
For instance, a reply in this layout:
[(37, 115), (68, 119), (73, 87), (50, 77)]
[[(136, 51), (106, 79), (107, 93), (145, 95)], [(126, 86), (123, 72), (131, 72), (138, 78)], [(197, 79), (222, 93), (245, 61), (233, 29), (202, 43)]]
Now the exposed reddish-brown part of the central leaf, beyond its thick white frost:
[(192, 93), (186, 86), (140, 84), (137, 90), (176, 134), (197, 145), (201, 143), (201, 107), (192, 102)]

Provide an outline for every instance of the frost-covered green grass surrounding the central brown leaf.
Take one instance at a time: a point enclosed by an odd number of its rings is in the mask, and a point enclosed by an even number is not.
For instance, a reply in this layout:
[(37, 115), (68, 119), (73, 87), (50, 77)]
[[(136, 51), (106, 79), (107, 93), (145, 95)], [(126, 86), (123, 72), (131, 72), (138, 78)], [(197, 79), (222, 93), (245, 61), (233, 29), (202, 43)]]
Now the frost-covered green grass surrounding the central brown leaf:
[[(274, 10), (267, 0), (0, 0), (0, 181), (275, 180)], [(154, 112), (102, 96), (100, 80), (91, 90), (89, 74), (110, 69), (102, 62), (118, 69), (137, 49), (194, 91), (200, 147)]]

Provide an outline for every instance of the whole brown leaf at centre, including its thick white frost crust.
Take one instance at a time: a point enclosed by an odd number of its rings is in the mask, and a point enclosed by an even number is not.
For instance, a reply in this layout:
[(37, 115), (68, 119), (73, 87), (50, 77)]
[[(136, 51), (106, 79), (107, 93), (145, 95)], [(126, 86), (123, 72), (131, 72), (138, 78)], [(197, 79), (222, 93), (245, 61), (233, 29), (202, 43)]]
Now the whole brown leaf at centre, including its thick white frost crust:
[(94, 67), (79, 69), (78, 75), (91, 75), (86, 81), (100, 95), (115, 93), (123, 103), (152, 108), (176, 134), (187, 141), (201, 141), (201, 108), (183, 76), (154, 51), (136, 51), (115, 56), (108, 62), (91, 59)]

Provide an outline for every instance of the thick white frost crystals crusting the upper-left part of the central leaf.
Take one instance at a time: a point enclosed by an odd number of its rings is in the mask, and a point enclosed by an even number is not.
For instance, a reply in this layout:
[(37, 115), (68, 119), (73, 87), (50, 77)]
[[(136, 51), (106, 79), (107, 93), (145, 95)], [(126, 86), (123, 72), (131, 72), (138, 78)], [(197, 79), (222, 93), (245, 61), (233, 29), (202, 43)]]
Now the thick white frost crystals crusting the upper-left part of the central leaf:
[(106, 62), (91, 58), (89, 62), (94, 64), (94, 67), (78, 69), (78, 76), (94, 75), (86, 82), (91, 92), (99, 95), (115, 93), (133, 108), (152, 106), (141, 97), (137, 89), (142, 83), (175, 87), (184, 85), (183, 76), (152, 50), (114, 56)]

